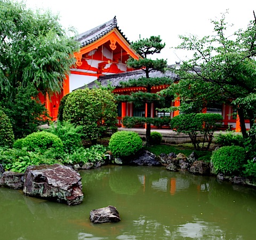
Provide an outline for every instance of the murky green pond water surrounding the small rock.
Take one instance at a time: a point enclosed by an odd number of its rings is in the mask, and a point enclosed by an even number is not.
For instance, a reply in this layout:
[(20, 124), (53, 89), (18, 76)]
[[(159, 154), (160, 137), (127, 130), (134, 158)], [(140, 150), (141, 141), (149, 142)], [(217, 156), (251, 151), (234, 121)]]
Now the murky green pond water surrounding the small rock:
[[(0, 188), (1, 240), (256, 239), (256, 190), (164, 167), (80, 172), (84, 201), (68, 206)], [(93, 224), (113, 205), (121, 221)]]

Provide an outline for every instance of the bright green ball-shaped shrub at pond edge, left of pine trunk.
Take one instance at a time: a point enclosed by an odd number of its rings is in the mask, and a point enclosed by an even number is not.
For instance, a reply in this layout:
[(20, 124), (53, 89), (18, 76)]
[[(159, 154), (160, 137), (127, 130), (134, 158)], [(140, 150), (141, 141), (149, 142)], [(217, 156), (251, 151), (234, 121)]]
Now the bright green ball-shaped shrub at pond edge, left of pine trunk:
[(142, 139), (137, 132), (119, 131), (111, 135), (109, 149), (114, 157), (127, 157), (142, 148)]

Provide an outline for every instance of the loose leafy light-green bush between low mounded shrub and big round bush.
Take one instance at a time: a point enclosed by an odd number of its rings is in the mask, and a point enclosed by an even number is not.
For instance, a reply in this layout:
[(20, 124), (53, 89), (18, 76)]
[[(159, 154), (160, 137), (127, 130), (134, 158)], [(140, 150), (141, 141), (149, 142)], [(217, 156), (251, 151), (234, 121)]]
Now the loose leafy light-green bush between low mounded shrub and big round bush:
[(75, 126), (69, 122), (57, 122), (57, 125), (50, 126), (50, 132), (57, 135), (66, 153), (73, 153), (74, 150), (82, 147), (82, 126)]

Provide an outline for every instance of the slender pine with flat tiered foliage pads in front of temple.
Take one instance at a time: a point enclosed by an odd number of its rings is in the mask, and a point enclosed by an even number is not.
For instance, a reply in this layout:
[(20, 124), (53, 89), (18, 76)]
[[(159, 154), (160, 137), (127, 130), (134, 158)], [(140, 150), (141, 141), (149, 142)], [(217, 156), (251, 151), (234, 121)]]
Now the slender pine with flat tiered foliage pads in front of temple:
[[(161, 97), (155, 93), (151, 93), (152, 86), (171, 84), (173, 80), (168, 77), (153, 78), (150, 77), (150, 71), (159, 70), (164, 72), (167, 67), (167, 62), (164, 59), (152, 60), (148, 58), (150, 55), (160, 53), (165, 44), (162, 43), (162, 39), (159, 36), (151, 36), (150, 38), (140, 39), (137, 42), (131, 44), (132, 49), (137, 51), (142, 58), (128, 59), (126, 64), (128, 67), (135, 69), (142, 69), (145, 72), (145, 77), (139, 79), (130, 79), (128, 82), (122, 82), (122, 87), (127, 86), (142, 86), (145, 87), (145, 92), (138, 91), (132, 92), (130, 96), (120, 95), (119, 101), (132, 101), (135, 104), (143, 103), (147, 105), (146, 118), (151, 117), (151, 103), (161, 100)], [(146, 108), (146, 106), (145, 106)], [(146, 129), (146, 143), (149, 145), (151, 125), (148, 122)]]

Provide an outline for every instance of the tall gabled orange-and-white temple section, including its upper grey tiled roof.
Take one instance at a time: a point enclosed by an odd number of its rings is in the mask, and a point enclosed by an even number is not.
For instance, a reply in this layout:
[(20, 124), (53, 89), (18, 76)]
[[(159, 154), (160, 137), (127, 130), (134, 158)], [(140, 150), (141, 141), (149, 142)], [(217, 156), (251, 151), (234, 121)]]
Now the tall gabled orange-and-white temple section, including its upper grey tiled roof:
[(126, 67), (125, 61), (129, 57), (140, 58), (117, 27), (116, 18), (78, 35), (77, 41), (81, 43), (81, 49), (74, 53), (76, 66), (70, 69), (61, 93), (53, 95), (51, 99), (39, 94), (39, 99), (45, 104), (53, 121), (57, 119), (60, 100), (64, 95), (99, 76), (130, 71), (132, 69)]

